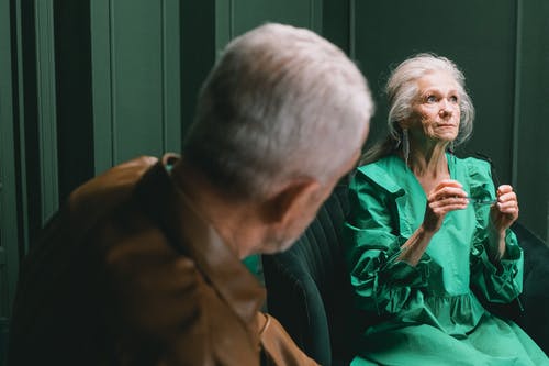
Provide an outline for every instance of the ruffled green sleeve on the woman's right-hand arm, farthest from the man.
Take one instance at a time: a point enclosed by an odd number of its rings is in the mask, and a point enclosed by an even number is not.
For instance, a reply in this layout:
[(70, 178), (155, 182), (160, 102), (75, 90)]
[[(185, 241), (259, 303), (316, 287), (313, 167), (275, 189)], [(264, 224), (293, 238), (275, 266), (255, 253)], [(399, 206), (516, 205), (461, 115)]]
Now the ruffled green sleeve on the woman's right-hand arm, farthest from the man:
[[(468, 159), (471, 197), (493, 199), (495, 188), (490, 165), (479, 159)], [(488, 301), (507, 303), (523, 291), (523, 251), (515, 233), (507, 230), (506, 253), (496, 265), (489, 259), (490, 207), (475, 208), (475, 233), (471, 245), (471, 287), (482, 293)]]

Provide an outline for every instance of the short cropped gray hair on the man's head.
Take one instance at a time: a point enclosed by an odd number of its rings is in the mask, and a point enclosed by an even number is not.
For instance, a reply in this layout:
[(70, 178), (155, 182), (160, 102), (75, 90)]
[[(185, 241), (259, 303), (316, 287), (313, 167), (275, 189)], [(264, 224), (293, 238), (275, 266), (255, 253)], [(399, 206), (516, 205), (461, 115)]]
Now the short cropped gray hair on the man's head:
[(323, 184), (361, 147), (372, 110), (366, 79), (339, 48), (265, 24), (231, 42), (210, 73), (183, 154), (239, 197), (295, 177)]

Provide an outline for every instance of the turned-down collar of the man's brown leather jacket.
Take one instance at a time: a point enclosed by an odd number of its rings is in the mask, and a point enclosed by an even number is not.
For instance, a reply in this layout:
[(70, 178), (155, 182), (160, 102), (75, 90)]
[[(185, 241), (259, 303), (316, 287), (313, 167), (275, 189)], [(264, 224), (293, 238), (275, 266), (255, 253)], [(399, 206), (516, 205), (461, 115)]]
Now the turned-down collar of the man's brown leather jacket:
[(176, 251), (194, 260), (219, 296), (250, 326), (265, 301), (265, 289), (184, 199), (165, 167), (173, 159), (173, 154), (165, 155), (144, 175), (136, 186), (137, 200)]

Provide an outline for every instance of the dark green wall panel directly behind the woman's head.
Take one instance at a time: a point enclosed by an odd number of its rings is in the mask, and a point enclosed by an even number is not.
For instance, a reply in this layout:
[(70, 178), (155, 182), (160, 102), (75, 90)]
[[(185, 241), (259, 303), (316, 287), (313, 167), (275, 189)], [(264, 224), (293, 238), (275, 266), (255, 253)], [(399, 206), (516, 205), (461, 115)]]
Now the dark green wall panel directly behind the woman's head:
[(356, 57), (371, 76), (378, 100), (373, 136), (385, 131), (388, 107), (381, 91), (390, 66), (416, 53), (434, 52), (456, 62), (466, 75), (477, 108), (467, 148), (491, 156), (502, 179), (511, 181), (515, 1), (502, 0), (494, 8), (490, 1), (463, 0), (451, 10), (448, 3), (436, 1), (418, 8), (414, 1), (357, 2)]

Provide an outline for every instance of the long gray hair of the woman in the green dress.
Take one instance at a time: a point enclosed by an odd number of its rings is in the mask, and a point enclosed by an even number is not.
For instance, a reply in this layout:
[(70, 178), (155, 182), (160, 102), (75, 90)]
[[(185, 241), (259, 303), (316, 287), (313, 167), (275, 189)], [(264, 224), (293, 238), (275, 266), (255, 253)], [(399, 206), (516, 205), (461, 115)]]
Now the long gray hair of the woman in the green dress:
[(388, 140), (374, 145), (361, 158), (361, 164), (370, 163), (396, 148), (401, 141), (402, 130), (399, 125), (412, 114), (412, 104), (418, 96), (417, 79), (433, 71), (444, 71), (458, 84), (460, 124), (453, 146), (466, 142), (472, 134), (474, 107), (466, 90), (466, 77), (458, 66), (446, 57), (422, 53), (402, 62), (390, 75), (385, 86), (389, 98)]

